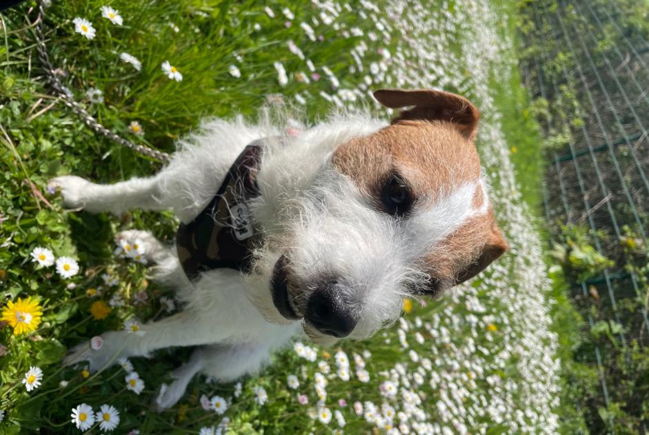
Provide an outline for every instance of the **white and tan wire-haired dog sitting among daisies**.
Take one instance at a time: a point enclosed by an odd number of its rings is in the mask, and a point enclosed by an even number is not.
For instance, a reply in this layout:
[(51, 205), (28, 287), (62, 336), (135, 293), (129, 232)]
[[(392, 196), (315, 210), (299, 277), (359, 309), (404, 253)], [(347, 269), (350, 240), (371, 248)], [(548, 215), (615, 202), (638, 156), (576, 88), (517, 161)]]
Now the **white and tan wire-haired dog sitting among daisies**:
[(81, 343), (64, 363), (95, 371), (197, 346), (157, 398), (168, 408), (195, 374), (254, 374), (301, 331), (321, 345), (367, 338), (404, 298), (439, 297), (506, 252), (474, 144), (477, 108), (441, 90), (374, 96), (401, 112), (390, 123), (339, 114), (292, 134), (217, 119), (150, 178), (53, 179), (69, 208), (172, 209), (181, 221), (171, 249), (144, 231), (118, 236), (143, 243), (181, 312), (139, 334), (106, 332), (99, 350)]

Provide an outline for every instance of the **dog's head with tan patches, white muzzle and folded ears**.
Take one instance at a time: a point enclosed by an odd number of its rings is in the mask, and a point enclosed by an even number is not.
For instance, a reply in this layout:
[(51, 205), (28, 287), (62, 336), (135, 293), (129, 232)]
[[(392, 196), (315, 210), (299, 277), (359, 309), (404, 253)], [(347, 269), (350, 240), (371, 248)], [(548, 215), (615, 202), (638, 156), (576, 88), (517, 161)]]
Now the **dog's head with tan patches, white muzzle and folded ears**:
[(319, 343), (370, 336), (404, 297), (437, 296), (507, 250), (473, 143), (478, 110), (438, 90), (375, 97), (413, 107), (333, 145), (275, 208), (281, 219), (255, 262), (266, 287), (252, 303), (272, 322), (302, 319)]

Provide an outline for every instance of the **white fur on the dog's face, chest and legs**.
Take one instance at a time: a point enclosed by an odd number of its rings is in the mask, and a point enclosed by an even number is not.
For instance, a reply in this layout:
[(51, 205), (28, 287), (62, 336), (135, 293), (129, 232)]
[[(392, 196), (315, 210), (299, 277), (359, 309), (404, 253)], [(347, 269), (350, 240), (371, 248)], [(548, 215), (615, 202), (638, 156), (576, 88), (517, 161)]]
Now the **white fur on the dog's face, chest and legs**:
[[(194, 374), (230, 381), (255, 372), (301, 329), (318, 343), (335, 342), (304, 322), (287, 321), (272, 304), (272, 269), (287, 252), (292, 274), (301, 283), (292, 290), (297, 310), (306, 305), (312, 283), (322, 276), (336, 276), (343, 289), (341, 298), (359, 318), (351, 338), (366, 338), (395, 321), (403, 297), (408, 296), (406, 285), (427, 279), (415, 267), (419, 257), (481, 210), (472, 210), (477, 184), (470, 183), (408, 221), (372, 208), (352, 181), (333, 168), (331, 156), (341, 143), (385, 125), (363, 115), (336, 117), (298, 136), (268, 143), (257, 178), (261, 195), (249, 204), (255, 230), (264, 239), (255, 252), (251, 274), (212, 270), (192, 284), (175, 250), (146, 232), (121, 234), (145, 243), (150, 261), (156, 263), (154, 278), (177, 288), (183, 309), (143, 325), (142, 336), (107, 332), (101, 350), (90, 350), (83, 343), (66, 363), (88, 360), (91, 370), (99, 370), (122, 356), (148, 356), (163, 347), (203, 346), (174, 372), (174, 383), (157, 398), (159, 407), (170, 407)], [(268, 123), (213, 120), (181, 142), (168, 167), (151, 178), (97, 185), (62, 176), (53, 183), (61, 188), (68, 207), (115, 214), (131, 208), (171, 208), (181, 221), (189, 222), (212, 199), (248, 143), (279, 133)]]

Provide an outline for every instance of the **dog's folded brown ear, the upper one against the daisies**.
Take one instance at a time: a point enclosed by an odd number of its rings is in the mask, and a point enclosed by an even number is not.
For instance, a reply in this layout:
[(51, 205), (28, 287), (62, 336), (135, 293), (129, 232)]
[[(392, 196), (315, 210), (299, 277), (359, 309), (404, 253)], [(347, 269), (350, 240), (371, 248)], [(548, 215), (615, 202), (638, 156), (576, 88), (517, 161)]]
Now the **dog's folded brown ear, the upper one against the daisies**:
[(374, 92), (379, 103), (391, 109), (415, 106), (403, 110), (392, 119), (396, 123), (406, 119), (426, 119), (428, 121), (448, 121), (457, 126), (457, 130), (466, 139), (475, 139), (480, 112), (468, 99), (441, 90), (402, 90), (381, 89)]

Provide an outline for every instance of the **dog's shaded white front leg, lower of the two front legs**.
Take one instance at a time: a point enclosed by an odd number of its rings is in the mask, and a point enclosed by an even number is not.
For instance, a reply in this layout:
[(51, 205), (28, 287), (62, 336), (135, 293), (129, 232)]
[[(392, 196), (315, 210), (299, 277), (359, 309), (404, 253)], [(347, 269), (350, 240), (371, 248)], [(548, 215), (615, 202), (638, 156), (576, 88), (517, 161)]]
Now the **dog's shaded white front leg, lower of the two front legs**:
[(195, 346), (214, 343), (227, 338), (225, 328), (214, 327), (209, 313), (183, 311), (161, 321), (141, 325), (138, 333), (110, 331), (101, 335), (103, 345), (92, 350), (90, 341), (70, 350), (64, 365), (88, 361), (90, 372), (96, 372), (117, 362), (118, 358), (148, 356), (163, 347)]

